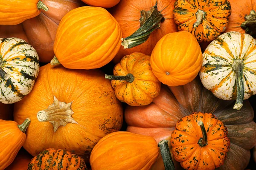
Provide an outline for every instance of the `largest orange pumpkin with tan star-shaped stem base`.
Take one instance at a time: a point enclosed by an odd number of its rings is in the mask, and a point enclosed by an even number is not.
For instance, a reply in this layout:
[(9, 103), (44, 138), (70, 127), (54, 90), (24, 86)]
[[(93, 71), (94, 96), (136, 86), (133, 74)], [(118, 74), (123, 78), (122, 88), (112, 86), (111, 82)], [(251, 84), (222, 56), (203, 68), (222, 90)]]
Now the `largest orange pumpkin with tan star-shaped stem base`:
[(23, 147), (32, 156), (54, 147), (88, 159), (99, 139), (122, 126), (122, 105), (111, 82), (96, 69), (47, 64), (40, 72), (33, 91), (14, 108), (16, 122), (32, 120)]

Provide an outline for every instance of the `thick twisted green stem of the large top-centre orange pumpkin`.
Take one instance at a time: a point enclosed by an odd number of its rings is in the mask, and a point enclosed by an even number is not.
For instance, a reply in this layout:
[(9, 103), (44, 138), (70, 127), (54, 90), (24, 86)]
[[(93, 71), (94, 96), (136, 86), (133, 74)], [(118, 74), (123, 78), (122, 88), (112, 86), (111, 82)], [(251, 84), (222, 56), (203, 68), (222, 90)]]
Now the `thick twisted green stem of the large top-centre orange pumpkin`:
[(157, 10), (157, 3), (149, 11), (140, 11), (140, 28), (129, 37), (122, 38), (124, 48), (133, 48), (148, 40), (151, 32), (160, 27), (164, 21), (163, 14)]

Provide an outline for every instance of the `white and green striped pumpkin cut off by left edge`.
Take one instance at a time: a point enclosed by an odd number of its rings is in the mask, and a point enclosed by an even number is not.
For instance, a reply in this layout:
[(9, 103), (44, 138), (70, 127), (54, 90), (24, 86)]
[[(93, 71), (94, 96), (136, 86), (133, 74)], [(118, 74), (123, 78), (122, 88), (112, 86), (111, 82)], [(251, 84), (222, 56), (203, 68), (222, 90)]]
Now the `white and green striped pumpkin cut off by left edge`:
[(0, 38), (0, 102), (20, 101), (32, 90), (39, 73), (35, 49), (19, 38)]

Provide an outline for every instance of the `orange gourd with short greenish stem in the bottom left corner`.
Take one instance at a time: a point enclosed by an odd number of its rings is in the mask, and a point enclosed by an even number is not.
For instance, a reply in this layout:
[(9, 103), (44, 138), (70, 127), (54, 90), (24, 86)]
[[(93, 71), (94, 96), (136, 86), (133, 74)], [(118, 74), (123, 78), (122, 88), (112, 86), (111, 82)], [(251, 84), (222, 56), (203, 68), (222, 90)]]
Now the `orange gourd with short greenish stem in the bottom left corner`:
[(2, 146), (0, 147), (0, 170), (4, 170), (15, 159), (26, 140), (25, 131), (29, 123), (29, 118), (26, 118), (21, 125), (14, 121), (0, 119), (0, 141)]

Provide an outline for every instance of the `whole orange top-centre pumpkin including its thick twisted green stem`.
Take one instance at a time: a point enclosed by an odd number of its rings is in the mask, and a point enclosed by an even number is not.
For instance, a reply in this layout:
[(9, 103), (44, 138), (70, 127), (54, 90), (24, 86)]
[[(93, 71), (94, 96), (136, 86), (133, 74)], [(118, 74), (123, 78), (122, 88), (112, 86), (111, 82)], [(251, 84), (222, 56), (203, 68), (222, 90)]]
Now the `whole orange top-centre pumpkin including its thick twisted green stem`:
[[(111, 11), (122, 30), (123, 47), (113, 62), (134, 52), (151, 55), (165, 34), (176, 32), (174, 0), (121, 0)], [(125, 49), (126, 48), (126, 49)]]

